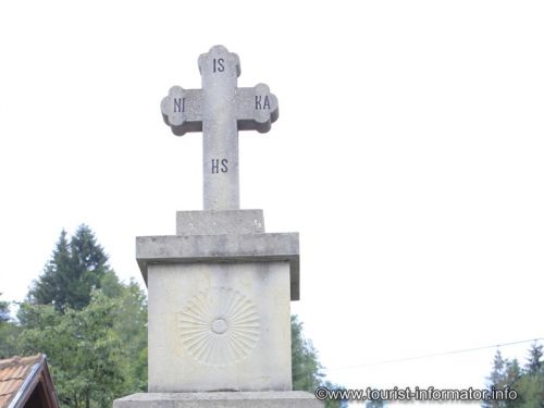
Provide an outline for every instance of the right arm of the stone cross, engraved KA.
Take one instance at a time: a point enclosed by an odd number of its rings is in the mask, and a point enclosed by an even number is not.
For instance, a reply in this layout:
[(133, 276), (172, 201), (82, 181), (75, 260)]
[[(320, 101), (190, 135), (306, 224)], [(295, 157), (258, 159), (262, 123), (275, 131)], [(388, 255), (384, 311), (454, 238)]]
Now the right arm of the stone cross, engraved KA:
[(279, 116), (277, 98), (268, 85), (236, 89), (236, 121), (238, 131), (267, 133)]

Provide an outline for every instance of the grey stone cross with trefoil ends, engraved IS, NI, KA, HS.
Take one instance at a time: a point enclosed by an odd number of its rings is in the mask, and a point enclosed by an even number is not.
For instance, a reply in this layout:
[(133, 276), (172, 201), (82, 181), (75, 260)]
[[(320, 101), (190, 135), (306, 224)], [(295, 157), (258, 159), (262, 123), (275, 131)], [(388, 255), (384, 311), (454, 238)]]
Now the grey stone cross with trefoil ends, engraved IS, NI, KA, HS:
[(202, 89), (174, 86), (162, 100), (166, 125), (176, 136), (203, 134), (203, 209), (239, 209), (238, 131), (270, 131), (277, 99), (264, 84), (238, 88), (238, 55), (214, 46), (198, 59)]

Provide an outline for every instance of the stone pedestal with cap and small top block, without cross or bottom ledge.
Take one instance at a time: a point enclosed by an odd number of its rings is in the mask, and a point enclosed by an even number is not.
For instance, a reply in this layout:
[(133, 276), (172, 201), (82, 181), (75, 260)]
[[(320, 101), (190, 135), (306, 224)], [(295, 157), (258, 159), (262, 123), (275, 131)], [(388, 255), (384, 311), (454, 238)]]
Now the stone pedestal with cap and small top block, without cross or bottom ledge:
[(290, 391), (298, 234), (264, 233), (260, 210), (178, 212), (176, 224), (136, 238), (149, 392)]

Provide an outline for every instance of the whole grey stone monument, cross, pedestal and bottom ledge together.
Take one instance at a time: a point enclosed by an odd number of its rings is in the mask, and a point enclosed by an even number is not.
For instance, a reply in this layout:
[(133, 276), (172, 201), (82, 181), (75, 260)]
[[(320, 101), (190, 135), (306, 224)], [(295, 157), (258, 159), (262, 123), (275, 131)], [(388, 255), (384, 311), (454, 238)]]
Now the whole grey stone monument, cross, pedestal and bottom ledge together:
[(277, 99), (264, 84), (238, 88), (238, 55), (222, 46), (198, 66), (202, 88), (172, 87), (161, 111), (175, 135), (202, 132), (203, 211), (178, 211), (176, 235), (136, 238), (149, 393), (114, 407), (321, 407), (292, 391), (298, 234), (265, 233), (262, 210), (239, 209), (238, 131), (270, 131)]

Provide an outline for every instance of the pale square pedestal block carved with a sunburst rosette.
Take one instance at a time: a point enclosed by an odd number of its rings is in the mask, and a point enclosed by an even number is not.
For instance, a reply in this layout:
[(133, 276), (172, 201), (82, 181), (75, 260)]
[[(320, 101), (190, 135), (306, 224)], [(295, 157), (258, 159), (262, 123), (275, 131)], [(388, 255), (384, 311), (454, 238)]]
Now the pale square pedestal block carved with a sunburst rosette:
[(289, 264), (148, 267), (149, 392), (288, 391)]

